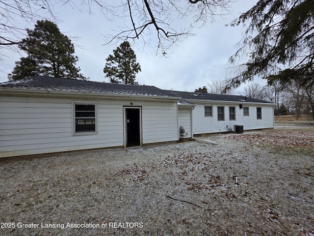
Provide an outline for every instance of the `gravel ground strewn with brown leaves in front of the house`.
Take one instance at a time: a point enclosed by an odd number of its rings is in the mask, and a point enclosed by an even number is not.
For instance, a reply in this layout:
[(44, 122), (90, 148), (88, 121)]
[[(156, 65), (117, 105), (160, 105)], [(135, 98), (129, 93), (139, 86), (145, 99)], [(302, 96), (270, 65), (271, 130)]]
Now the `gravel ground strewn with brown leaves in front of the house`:
[(312, 122), (199, 138), (2, 160), (0, 235), (314, 236)]

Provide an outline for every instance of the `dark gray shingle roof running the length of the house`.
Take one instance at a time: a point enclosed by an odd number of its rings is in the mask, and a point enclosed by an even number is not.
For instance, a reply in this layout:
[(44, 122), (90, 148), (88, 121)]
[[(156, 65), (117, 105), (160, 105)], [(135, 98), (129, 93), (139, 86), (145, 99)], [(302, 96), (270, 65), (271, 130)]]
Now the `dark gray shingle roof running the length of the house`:
[(61, 79), (46, 76), (27, 77), (21, 80), (4, 82), (0, 84), (0, 88), (167, 96), (182, 98), (183, 101), (181, 101), (181, 103), (187, 102), (184, 100), (234, 101), (239, 103), (244, 102), (268, 103), (266, 101), (237, 95), (221, 95), (212, 93), (163, 90), (158, 89), (155, 86), (121, 85), (94, 81)]

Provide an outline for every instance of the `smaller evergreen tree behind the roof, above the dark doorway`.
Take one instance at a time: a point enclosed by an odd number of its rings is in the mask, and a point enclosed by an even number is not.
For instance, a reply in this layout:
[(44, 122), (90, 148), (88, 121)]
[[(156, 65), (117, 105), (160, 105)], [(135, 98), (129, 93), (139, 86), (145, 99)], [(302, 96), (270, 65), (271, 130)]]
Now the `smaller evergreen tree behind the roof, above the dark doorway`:
[(104, 73), (111, 83), (138, 85), (135, 77), (141, 71), (141, 66), (136, 62), (136, 55), (128, 41), (113, 50), (113, 55), (109, 55), (106, 61)]

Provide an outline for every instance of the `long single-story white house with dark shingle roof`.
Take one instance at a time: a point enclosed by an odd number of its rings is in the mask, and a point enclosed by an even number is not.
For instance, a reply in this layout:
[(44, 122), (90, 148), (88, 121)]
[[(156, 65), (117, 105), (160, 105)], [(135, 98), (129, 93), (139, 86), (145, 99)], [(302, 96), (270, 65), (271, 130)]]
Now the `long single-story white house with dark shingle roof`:
[(0, 84), (0, 157), (177, 142), (228, 131), (226, 124), (271, 128), (272, 105), (154, 86), (27, 77)]

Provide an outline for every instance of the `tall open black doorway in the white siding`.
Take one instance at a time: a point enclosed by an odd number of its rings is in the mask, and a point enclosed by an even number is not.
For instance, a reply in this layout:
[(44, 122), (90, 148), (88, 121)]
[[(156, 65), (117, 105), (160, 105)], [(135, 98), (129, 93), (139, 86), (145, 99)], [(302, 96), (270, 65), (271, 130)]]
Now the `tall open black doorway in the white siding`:
[(140, 109), (127, 108), (127, 147), (140, 146)]

